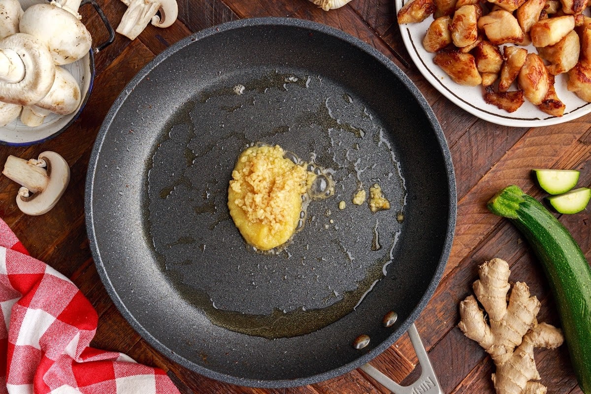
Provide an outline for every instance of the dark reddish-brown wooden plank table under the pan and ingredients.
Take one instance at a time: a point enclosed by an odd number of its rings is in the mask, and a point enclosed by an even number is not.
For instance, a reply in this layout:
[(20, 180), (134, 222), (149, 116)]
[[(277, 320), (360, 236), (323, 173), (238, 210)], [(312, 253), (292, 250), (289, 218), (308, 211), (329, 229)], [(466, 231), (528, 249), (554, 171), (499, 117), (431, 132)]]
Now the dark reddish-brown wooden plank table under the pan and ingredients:
[[(98, 0), (116, 26), (126, 6), (119, 0)], [(216, 382), (163, 357), (131, 328), (115, 308), (100, 282), (90, 255), (84, 214), (84, 187), (90, 150), (103, 118), (115, 97), (137, 71), (164, 48), (183, 37), (222, 22), (250, 17), (294, 17), (339, 28), (373, 45), (410, 76), (433, 107), (452, 151), (457, 177), (456, 237), (443, 279), (417, 320), (434, 369), (446, 393), (493, 393), (490, 357), (463, 336), (457, 323), (458, 304), (470, 294), (477, 265), (495, 256), (511, 265), (511, 280), (525, 281), (542, 302), (538, 320), (559, 324), (556, 307), (540, 265), (517, 230), (485, 208), (499, 188), (518, 184), (535, 197), (543, 194), (532, 183), (531, 168), (576, 168), (580, 185), (591, 183), (591, 114), (560, 126), (509, 128), (493, 125), (457, 108), (424, 80), (402, 45), (392, 0), (353, 0), (343, 8), (324, 12), (306, 0), (184, 0), (178, 21), (170, 28), (148, 28), (134, 41), (116, 35), (115, 42), (96, 56), (95, 87), (82, 116), (59, 137), (28, 148), (0, 147), (0, 163), (8, 154), (37, 157), (46, 149), (59, 152), (72, 168), (66, 194), (50, 213), (25, 216), (14, 202), (18, 185), (0, 177), (0, 217), (31, 254), (68, 276), (82, 289), (99, 313), (93, 346), (118, 350), (138, 362), (157, 366), (181, 393), (387, 393), (359, 370), (303, 388), (252, 389)], [(83, 22), (95, 42), (106, 37), (99, 18), (83, 9)], [(591, 256), (591, 214), (561, 216), (587, 258)], [(566, 346), (537, 350), (536, 362), (549, 393), (581, 393), (570, 366)], [(374, 362), (397, 381), (412, 382), (416, 356), (405, 335)]]

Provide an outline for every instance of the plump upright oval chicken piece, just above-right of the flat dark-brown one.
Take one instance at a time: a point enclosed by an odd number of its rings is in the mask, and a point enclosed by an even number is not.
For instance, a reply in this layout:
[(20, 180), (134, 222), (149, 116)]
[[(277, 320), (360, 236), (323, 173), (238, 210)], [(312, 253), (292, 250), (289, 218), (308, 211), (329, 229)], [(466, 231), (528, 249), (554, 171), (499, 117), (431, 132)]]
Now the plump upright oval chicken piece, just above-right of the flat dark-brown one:
[(544, 100), (550, 89), (550, 74), (538, 54), (530, 53), (525, 57), (517, 83), (525, 98), (532, 104), (538, 105)]

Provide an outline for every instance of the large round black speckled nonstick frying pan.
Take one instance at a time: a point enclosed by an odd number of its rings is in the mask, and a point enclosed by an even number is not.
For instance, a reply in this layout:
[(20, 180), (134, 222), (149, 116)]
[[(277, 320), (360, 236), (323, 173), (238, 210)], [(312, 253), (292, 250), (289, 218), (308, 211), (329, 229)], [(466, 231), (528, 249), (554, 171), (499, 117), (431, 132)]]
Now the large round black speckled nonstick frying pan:
[[(255, 143), (335, 183), (274, 254), (249, 248), (228, 214), (232, 168)], [(389, 210), (352, 204), (376, 183)], [(330, 379), (409, 328), (422, 347), (411, 324), (455, 215), (446, 141), (408, 77), (356, 38), (290, 18), (229, 22), (157, 56), (106, 116), (86, 181), (90, 246), (124, 317), (175, 362), (242, 386)]]

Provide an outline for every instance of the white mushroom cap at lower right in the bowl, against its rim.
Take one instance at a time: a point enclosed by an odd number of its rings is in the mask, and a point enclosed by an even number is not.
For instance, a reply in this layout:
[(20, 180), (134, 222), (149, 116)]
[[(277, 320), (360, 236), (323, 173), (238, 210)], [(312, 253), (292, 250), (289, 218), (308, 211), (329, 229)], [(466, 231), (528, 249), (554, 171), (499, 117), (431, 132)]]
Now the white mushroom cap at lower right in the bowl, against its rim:
[(78, 109), (81, 97), (80, 86), (72, 74), (56, 67), (56, 79), (53, 80), (49, 93), (35, 105), (59, 115), (67, 115)]

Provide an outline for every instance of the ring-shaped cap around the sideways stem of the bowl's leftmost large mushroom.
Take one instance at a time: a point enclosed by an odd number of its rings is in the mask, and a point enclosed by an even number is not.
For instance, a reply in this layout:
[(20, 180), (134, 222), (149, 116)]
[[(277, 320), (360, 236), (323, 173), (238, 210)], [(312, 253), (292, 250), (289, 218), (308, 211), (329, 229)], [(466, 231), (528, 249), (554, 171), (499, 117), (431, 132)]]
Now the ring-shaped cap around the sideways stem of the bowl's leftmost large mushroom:
[(56, 66), (47, 47), (32, 35), (17, 33), (0, 40), (0, 50), (18, 54), (25, 66), (25, 76), (17, 83), (0, 82), (0, 101), (31, 105), (43, 99), (53, 85)]

